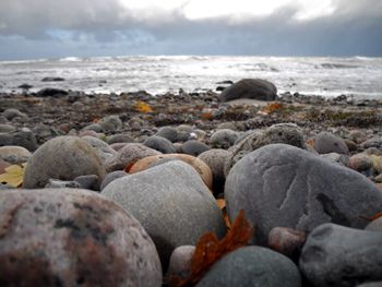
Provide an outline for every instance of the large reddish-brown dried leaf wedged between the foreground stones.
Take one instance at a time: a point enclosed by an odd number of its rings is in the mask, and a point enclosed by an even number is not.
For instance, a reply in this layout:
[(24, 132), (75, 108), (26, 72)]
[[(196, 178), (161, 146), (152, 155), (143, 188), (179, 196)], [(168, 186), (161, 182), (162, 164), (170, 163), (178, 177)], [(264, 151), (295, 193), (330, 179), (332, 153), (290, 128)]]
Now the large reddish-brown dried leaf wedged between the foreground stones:
[(171, 278), (170, 286), (194, 286), (211, 266), (234, 250), (247, 246), (253, 235), (253, 229), (241, 210), (236, 217), (232, 228), (219, 241), (216, 235), (207, 232), (199, 240), (191, 261), (191, 276), (186, 279)]

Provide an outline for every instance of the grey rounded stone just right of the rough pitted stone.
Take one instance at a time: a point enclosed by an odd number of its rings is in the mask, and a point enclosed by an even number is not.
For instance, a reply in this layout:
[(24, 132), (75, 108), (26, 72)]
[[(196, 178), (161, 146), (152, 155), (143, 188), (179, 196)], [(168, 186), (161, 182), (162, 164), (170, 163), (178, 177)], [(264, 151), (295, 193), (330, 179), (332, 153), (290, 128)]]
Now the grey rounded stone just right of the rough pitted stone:
[(315, 135), (314, 150), (319, 154), (337, 153), (347, 155), (349, 153), (345, 141), (330, 132), (320, 132)]

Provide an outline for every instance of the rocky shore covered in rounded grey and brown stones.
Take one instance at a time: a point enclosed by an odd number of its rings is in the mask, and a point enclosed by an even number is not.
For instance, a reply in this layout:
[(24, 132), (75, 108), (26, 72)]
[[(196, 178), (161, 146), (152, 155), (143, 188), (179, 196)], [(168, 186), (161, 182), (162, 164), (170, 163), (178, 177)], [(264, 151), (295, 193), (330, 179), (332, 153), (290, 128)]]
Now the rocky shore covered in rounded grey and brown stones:
[(382, 286), (382, 100), (253, 83), (0, 94), (0, 286)]

